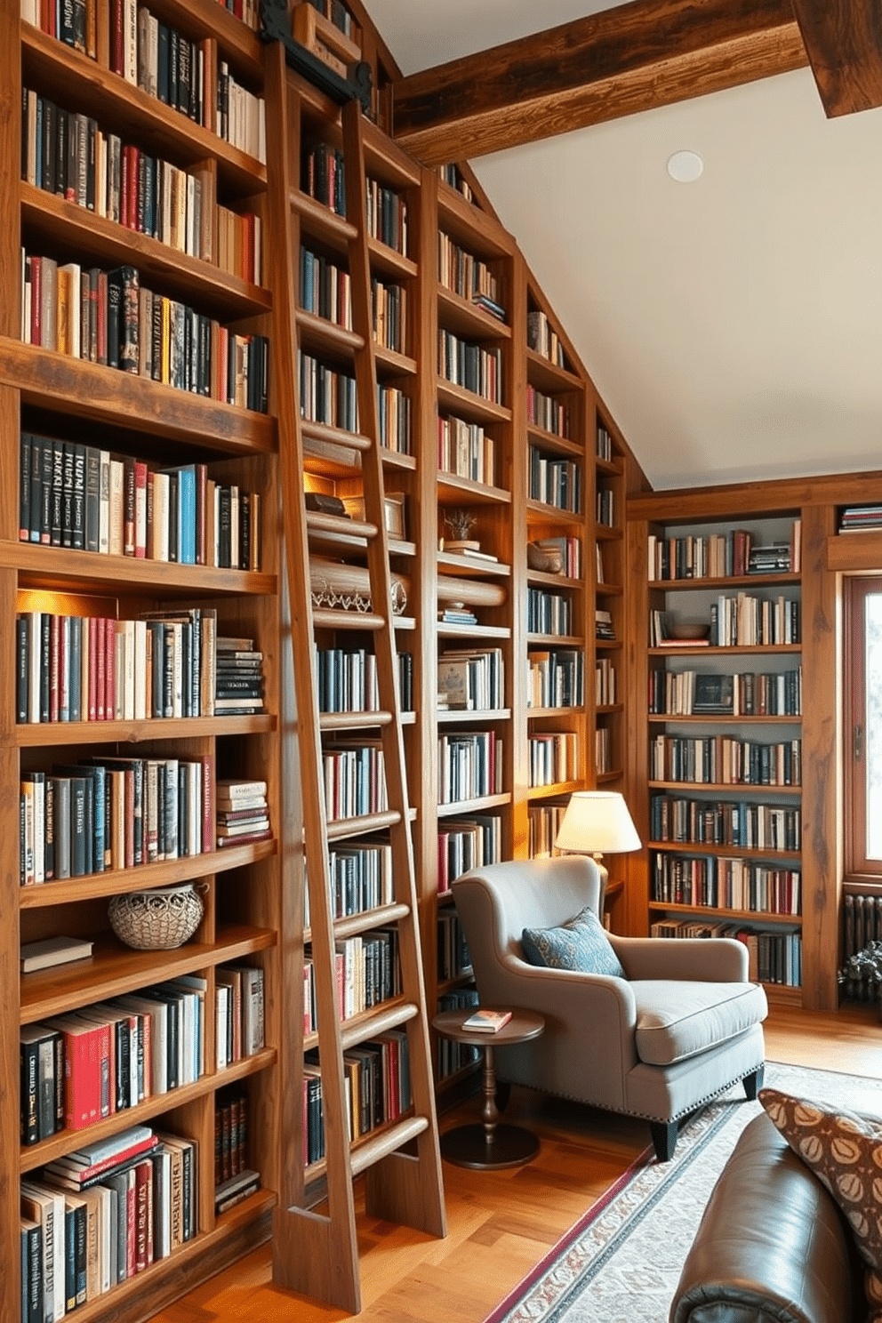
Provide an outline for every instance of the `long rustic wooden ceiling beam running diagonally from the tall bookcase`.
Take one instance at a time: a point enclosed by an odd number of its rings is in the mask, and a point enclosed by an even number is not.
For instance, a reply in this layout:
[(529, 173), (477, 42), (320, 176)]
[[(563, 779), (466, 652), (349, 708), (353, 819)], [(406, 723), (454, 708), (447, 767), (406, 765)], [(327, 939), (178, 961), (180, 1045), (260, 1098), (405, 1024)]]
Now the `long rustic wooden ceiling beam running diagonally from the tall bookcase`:
[(440, 165), (807, 64), (791, 0), (632, 0), (402, 78), (393, 132)]

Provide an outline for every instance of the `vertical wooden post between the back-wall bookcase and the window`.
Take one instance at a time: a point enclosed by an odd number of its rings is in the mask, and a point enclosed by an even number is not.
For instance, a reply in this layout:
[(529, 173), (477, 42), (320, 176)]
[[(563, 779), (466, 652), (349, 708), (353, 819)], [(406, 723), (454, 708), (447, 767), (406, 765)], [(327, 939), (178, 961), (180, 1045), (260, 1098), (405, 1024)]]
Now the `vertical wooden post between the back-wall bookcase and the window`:
[(826, 570), (832, 507), (803, 508), (803, 1005), (838, 1004), (842, 849), (837, 585)]

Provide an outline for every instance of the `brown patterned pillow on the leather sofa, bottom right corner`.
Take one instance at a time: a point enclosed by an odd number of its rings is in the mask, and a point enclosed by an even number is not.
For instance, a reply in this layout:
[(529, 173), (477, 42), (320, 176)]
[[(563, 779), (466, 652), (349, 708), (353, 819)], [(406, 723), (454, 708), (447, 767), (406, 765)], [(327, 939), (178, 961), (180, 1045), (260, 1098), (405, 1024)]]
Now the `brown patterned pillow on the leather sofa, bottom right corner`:
[(760, 1089), (758, 1097), (796, 1156), (845, 1213), (867, 1265), (869, 1323), (882, 1323), (882, 1121), (778, 1089)]

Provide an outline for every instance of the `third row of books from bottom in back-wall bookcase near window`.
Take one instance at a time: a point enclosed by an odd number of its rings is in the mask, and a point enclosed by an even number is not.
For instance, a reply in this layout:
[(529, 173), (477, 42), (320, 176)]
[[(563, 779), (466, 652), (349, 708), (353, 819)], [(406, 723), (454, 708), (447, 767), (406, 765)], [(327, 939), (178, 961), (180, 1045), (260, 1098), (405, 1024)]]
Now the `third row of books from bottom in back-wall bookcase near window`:
[(799, 806), (791, 804), (652, 795), (649, 835), (652, 840), (682, 844), (796, 851), (803, 839), (803, 815)]

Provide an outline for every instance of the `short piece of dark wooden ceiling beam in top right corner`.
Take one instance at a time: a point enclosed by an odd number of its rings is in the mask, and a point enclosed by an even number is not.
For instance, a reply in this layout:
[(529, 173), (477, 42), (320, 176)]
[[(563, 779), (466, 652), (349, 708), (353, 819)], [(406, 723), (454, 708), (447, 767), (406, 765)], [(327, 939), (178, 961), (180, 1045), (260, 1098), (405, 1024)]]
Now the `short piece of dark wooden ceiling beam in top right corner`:
[(792, 0), (828, 118), (882, 106), (878, 0)]

